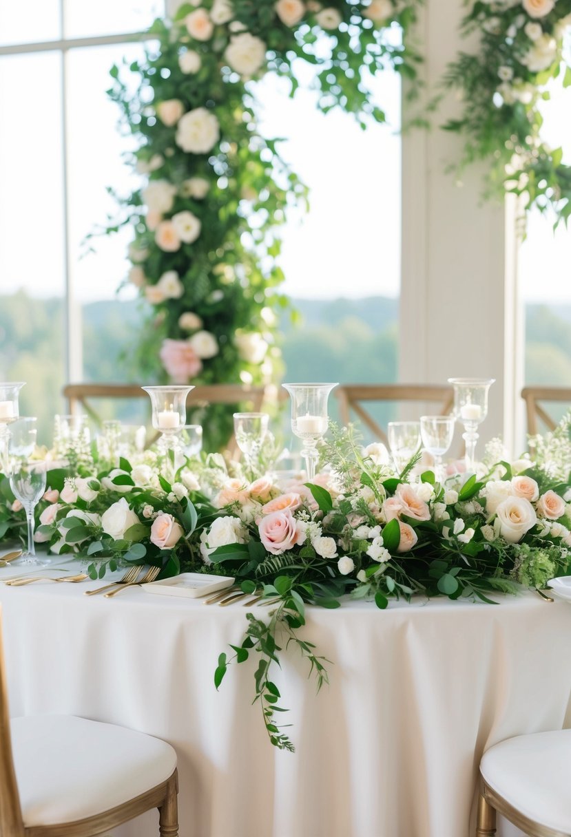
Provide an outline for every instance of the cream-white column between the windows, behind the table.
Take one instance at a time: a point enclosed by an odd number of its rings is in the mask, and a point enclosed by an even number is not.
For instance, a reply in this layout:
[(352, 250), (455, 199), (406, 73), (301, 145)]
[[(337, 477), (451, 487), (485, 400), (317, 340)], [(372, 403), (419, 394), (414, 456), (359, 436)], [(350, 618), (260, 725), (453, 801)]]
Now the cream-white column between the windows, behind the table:
[[(419, 20), (426, 82), (424, 100), (440, 88), (447, 64), (470, 44), (460, 39), (461, 0), (427, 0)], [(461, 183), (446, 167), (460, 159), (463, 140), (440, 125), (459, 115), (446, 95), (430, 131), (403, 136), (403, 254), (399, 377), (404, 383), (445, 383), (447, 377), (494, 377), (481, 438), (502, 434), (512, 448), (517, 382), (513, 214), (483, 202), (485, 168)], [(404, 101), (404, 122), (407, 103)]]

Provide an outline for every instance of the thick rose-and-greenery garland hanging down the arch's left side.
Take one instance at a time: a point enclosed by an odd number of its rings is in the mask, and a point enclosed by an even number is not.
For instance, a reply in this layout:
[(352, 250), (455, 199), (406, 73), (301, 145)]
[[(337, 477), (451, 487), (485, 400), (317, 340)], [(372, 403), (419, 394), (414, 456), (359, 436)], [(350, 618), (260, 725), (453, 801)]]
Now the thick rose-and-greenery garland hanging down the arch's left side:
[[(135, 93), (132, 80), (111, 69), (108, 93), (136, 138), (132, 162), (143, 180), (116, 196), (121, 218), (106, 232), (135, 231), (128, 281), (152, 306), (138, 348), (143, 372), (175, 383), (260, 384), (274, 376), (275, 310), (286, 307), (276, 291), (277, 227), (306, 201), (306, 187), (276, 141), (260, 136), (249, 81), (271, 71), (291, 80), (293, 94), (303, 60), (316, 68), (320, 110), (342, 107), (363, 126), (384, 121), (364, 70), (392, 64), (414, 77), (419, 57), (392, 24), (406, 32), (417, 2), (185, 3), (172, 23), (152, 25), (157, 47), (129, 64)], [(218, 448), (229, 437), (228, 416), (218, 434), (213, 424), (205, 432)]]

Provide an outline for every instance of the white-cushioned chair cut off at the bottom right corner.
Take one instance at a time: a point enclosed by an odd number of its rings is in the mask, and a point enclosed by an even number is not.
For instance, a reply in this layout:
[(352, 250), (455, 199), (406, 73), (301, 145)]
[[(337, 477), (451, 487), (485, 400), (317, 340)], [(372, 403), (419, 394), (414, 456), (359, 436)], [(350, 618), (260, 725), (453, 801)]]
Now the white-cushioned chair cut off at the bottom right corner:
[(571, 730), (495, 744), (481, 759), (480, 778), (477, 837), (496, 834), (496, 812), (530, 837), (571, 835)]

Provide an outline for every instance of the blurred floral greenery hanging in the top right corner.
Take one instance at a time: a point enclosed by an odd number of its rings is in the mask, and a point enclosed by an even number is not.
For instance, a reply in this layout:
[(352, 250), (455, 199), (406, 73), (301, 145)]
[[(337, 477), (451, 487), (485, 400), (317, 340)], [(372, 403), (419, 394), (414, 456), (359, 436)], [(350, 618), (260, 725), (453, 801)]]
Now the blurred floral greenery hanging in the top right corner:
[(570, 0), (477, 0), (463, 29), (481, 33), (480, 50), (460, 54), (446, 77), (465, 103), (460, 119), (445, 125), (465, 138), (462, 163), (491, 161), (488, 193), (549, 208), (556, 224), (571, 214), (571, 167), (562, 148), (542, 138), (540, 104), (549, 81), (563, 74), (563, 87), (571, 85), (563, 51), (569, 25)]

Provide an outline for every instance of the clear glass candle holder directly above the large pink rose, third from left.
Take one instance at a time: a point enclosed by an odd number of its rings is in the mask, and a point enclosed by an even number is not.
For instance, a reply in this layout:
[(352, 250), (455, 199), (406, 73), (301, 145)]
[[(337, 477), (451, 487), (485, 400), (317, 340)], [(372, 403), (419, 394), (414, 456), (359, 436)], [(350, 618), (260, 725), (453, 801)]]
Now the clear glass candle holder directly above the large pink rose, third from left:
[(315, 479), (319, 459), (317, 443), (327, 433), (327, 398), (337, 383), (282, 383), (290, 393), (291, 429), (301, 439), (301, 455), (306, 460), (307, 479)]

